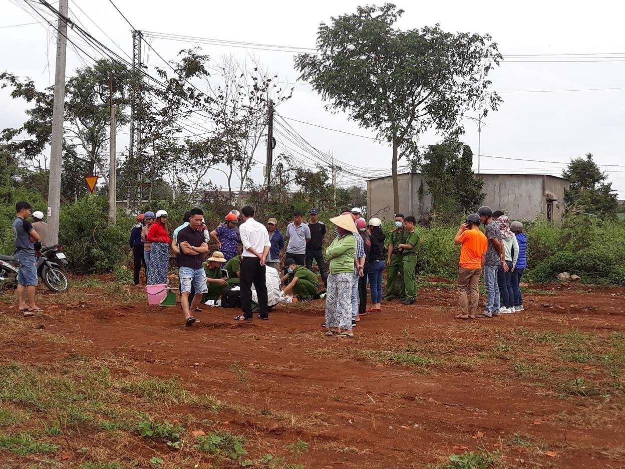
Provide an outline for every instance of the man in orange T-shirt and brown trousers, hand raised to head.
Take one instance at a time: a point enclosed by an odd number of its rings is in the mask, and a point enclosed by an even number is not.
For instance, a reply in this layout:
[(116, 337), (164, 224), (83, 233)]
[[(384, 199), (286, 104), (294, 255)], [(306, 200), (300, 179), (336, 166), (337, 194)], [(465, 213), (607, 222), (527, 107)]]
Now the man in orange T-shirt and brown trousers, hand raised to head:
[(462, 245), (458, 268), (458, 296), (461, 313), (456, 316), (456, 319), (475, 319), (479, 300), (479, 276), (482, 273), (488, 249), (488, 240), (479, 229), (480, 223), (477, 213), (470, 214), (460, 225), (456, 239), (454, 239), (454, 245)]

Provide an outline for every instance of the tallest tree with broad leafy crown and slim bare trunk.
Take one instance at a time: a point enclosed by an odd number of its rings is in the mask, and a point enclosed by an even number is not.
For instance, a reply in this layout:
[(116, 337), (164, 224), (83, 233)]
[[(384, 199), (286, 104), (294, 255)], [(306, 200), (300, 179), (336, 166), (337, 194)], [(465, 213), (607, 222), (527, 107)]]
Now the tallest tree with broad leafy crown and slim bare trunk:
[(417, 154), (419, 135), (432, 127), (462, 133), (461, 114), (482, 109), (486, 115), (501, 103), (487, 93), (486, 77), (502, 58), (491, 36), (446, 33), (439, 24), (400, 31), (394, 23), (403, 12), (386, 3), (331, 18), (331, 26), (319, 27), (319, 54), (295, 59), (299, 78), (330, 101), (326, 108), (346, 111), (392, 144), (395, 211), (397, 159)]

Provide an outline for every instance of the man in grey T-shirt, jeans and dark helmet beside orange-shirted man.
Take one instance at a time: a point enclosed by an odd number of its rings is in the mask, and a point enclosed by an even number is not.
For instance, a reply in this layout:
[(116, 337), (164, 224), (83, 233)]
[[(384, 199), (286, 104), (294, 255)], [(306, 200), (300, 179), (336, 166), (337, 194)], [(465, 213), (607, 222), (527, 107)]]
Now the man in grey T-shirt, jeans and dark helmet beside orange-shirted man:
[(499, 286), (497, 285), (497, 270), (499, 270), (501, 265), (504, 271), (507, 270), (506, 256), (503, 251), (503, 241), (499, 226), (497, 226), (496, 221), (492, 220), (492, 209), (484, 205), (477, 209), (477, 214), (481, 222), (486, 226), (488, 249), (486, 251), (486, 260), (484, 261), (486, 307), (484, 308), (484, 313), (477, 315), (476, 318), (492, 318), (492, 316), (499, 316), (501, 303)]

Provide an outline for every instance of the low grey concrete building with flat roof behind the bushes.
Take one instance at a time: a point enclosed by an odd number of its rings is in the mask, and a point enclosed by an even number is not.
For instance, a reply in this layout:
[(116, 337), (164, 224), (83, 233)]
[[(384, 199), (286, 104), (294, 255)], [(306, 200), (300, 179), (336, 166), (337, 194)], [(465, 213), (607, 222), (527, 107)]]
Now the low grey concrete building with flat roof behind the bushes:
[[(482, 204), (493, 210), (502, 209), (518, 220), (546, 218), (557, 220), (564, 210), (564, 190), (569, 181), (547, 174), (477, 174), (484, 180)], [(432, 198), (420, 173), (397, 175), (399, 210), (404, 215), (427, 217), (432, 211)], [(392, 178), (367, 181), (367, 216), (392, 219)]]

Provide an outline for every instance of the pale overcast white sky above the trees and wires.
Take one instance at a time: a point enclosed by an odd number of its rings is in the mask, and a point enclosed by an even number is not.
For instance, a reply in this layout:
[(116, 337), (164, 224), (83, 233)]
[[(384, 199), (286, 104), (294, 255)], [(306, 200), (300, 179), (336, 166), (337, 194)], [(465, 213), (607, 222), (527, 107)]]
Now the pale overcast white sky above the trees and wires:
[[(248, 0), (236, 3), (113, 1), (129, 22), (141, 31), (289, 46), (297, 50), (314, 48), (319, 23), (329, 22), (332, 16), (355, 13), (356, 7), (364, 4), (344, 0), (314, 3), (282, 0), (271, 3)], [(31, 3), (37, 2), (31, 0)], [(58, 1), (51, 3), (58, 7)], [(0, 41), (4, 44), (0, 49), (0, 70), (28, 76), (40, 87), (53, 84), (56, 51), (53, 29), (47, 24), (27, 24), (42, 19), (31, 16), (34, 12), (26, 0), (0, 0), (0, 4)], [(621, 24), (625, 3), (606, 0), (592, 4), (561, 0), (524, 3), (404, 0), (397, 2), (397, 6), (405, 10), (397, 24), (401, 29), (439, 23), (446, 31), (490, 34), (504, 55), (501, 66), (489, 74), (492, 80), (489, 91), (499, 93), (504, 103), (483, 121), (479, 158), (477, 124), (463, 119), (466, 134), (462, 141), (472, 148), (474, 171), (477, 172), (479, 159), (482, 173), (559, 176), (571, 158), (592, 153), (594, 161), (608, 174), (619, 198), (625, 198), (622, 149), (625, 44)], [(70, 18), (76, 19), (95, 38), (120, 55), (131, 56), (131, 28), (109, 0), (70, 0), (69, 11)], [(167, 60), (176, 58), (183, 48), (199, 45), (149, 38), (147, 34), (146, 39)], [(240, 61), (249, 61), (253, 56), (274, 71), (282, 83), (294, 86), (292, 98), (276, 109), (284, 120), (276, 126), (274, 154), (295, 150), (298, 153), (294, 156), (308, 166), (322, 161), (306, 144), (303, 146), (308, 151), (303, 151), (286, 139), (284, 126), (288, 123), (312, 147), (331, 154), (336, 164), (345, 168), (338, 178), (340, 185), (362, 183), (367, 177), (390, 173), (391, 148), (371, 139), (375, 136), (374, 131), (359, 128), (346, 114), (327, 111), (324, 107), (327, 103), (312, 91), (311, 86), (298, 83), (299, 74), (293, 67), (292, 52), (216, 44), (202, 44), (201, 47), (202, 53), (215, 61), (224, 54), (231, 54)], [(154, 66), (164, 64), (156, 54), (148, 51), (144, 46), (143, 61), (153, 74)], [(79, 58), (76, 51), (68, 48), (68, 75), (84, 63), (89, 63), (89, 59)], [(8, 89), (0, 90), (0, 103), (0, 128), (23, 123), (26, 105), (12, 100)], [(477, 112), (474, 114), (477, 116)], [(428, 132), (419, 143), (434, 144), (441, 139), (440, 135)], [(127, 144), (128, 134), (118, 135), (119, 150)], [(262, 162), (264, 158), (265, 151), (261, 148), (255, 159)], [(401, 160), (399, 164), (402, 164)], [(217, 184), (224, 184), (219, 171), (209, 172), (209, 177)], [(260, 163), (252, 171), (252, 177), (261, 181)]]

